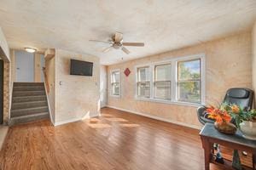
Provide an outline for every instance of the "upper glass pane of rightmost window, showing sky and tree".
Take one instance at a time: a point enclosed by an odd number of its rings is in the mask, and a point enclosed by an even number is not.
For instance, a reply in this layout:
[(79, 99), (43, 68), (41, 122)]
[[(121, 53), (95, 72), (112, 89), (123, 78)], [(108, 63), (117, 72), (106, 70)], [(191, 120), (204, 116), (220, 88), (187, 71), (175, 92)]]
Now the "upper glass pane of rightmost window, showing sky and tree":
[(201, 78), (201, 59), (180, 61), (177, 63), (178, 80), (195, 80)]

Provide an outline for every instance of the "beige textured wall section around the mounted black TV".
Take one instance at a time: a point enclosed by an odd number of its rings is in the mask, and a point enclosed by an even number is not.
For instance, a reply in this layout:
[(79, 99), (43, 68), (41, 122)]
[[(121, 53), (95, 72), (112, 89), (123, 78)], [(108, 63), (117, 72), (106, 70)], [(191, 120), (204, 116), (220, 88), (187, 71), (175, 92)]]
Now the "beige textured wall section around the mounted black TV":
[[(70, 75), (70, 59), (93, 62), (93, 76)], [(55, 125), (100, 113), (99, 58), (55, 50)]]

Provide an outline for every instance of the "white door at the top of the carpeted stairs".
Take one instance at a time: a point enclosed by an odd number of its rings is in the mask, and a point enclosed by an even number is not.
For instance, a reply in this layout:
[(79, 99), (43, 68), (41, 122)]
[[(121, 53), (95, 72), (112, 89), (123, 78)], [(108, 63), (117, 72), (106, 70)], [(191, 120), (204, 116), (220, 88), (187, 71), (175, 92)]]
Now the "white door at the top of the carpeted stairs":
[(34, 54), (26, 51), (16, 51), (15, 64), (15, 82), (34, 82)]

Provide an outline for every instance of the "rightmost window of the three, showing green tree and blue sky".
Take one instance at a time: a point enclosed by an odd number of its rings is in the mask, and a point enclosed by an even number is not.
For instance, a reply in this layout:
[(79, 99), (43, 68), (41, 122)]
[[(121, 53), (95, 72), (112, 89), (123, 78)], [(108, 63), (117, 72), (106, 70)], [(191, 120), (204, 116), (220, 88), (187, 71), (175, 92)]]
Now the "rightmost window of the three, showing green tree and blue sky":
[(201, 103), (201, 59), (177, 62), (177, 100)]

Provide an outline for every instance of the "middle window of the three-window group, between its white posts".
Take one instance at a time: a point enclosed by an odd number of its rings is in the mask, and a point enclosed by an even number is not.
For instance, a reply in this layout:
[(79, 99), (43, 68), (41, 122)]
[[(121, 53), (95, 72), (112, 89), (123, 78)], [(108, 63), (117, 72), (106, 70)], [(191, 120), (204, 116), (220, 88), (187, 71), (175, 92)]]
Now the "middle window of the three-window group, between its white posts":
[(171, 64), (154, 65), (154, 99), (171, 100)]

